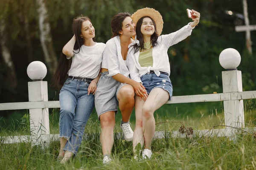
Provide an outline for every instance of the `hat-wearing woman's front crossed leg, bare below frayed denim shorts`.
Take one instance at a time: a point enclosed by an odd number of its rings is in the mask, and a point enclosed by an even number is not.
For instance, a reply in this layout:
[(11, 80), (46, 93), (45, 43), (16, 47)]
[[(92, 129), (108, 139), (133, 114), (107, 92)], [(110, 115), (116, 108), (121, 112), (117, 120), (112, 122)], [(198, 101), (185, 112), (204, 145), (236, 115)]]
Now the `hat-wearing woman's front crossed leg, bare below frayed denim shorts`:
[(145, 149), (151, 149), (155, 132), (154, 111), (164, 105), (169, 99), (169, 93), (162, 88), (154, 88), (148, 95), (142, 109)]

